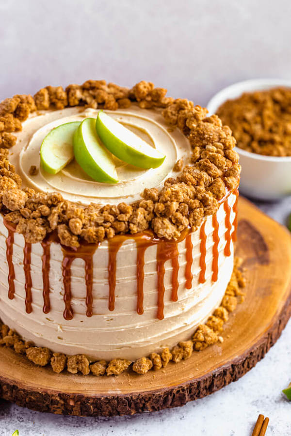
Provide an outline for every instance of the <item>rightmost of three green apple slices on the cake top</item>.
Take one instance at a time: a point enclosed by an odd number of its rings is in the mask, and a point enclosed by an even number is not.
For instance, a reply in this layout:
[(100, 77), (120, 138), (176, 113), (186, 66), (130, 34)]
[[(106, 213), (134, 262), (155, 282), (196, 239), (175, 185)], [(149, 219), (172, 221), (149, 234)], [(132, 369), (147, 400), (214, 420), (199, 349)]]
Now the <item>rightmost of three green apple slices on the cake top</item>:
[(103, 111), (98, 113), (96, 130), (100, 140), (114, 156), (135, 167), (157, 168), (166, 157)]

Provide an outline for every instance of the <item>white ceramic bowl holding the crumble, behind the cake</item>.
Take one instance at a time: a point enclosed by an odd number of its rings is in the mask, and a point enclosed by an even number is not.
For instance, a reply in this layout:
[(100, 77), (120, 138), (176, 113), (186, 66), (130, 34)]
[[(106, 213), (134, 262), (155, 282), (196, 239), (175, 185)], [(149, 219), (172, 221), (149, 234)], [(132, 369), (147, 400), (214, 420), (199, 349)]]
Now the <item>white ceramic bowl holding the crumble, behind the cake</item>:
[[(215, 94), (207, 109), (212, 115), (226, 100), (239, 97), (244, 92), (267, 90), (277, 86), (291, 88), (291, 80), (254, 79), (234, 83)], [(244, 195), (271, 201), (291, 195), (291, 156), (263, 156), (238, 147), (236, 151), (242, 165), (240, 191)]]

